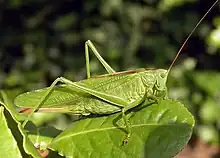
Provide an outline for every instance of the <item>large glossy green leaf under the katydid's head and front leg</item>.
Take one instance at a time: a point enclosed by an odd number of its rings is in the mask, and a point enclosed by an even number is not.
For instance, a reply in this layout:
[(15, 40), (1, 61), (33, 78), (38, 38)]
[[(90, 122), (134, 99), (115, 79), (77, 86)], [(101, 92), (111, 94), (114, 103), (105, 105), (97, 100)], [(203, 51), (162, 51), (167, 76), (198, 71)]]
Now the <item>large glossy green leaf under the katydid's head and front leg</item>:
[(132, 128), (128, 144), (120, 113), (82, 119), (58, 135), (50, 148), (66, 157), (167, 158), (177, 154), (192, 134), (194, 118), (179, 102), (164, 100), (127, 114)]

